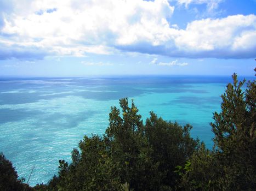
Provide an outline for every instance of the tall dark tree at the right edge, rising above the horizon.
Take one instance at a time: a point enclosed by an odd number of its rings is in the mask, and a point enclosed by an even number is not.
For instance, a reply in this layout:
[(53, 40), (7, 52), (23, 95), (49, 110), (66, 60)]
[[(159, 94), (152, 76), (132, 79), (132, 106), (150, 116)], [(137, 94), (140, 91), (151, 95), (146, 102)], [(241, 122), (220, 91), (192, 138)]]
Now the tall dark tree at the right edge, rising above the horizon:
[(227, 85), (221, 96), (221, 112), (214, 113), (211, 123), (224, 177), (219, 182), (227, 190), (253, 190), (256, 187), (256, 85), (246, 80), (238, 82), (232, 75), (233, 85)]

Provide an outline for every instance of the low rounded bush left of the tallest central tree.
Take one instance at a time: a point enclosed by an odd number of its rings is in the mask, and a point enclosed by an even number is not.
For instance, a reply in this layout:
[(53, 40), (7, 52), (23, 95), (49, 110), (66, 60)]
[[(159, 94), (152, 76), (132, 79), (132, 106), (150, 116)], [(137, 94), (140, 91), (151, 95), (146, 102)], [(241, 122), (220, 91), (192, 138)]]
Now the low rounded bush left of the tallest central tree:
[[(117, 168), (106, 150), (106, 144), (99, 136), (84, 136), (77, 149), (72, 152), (72, 163), (60, 160), (58, 190), (118, 190), (121, 186)], [(53, 183), (51, 184), (53, 185)], [(56, 189), (57, 190), (57, 189)]]

